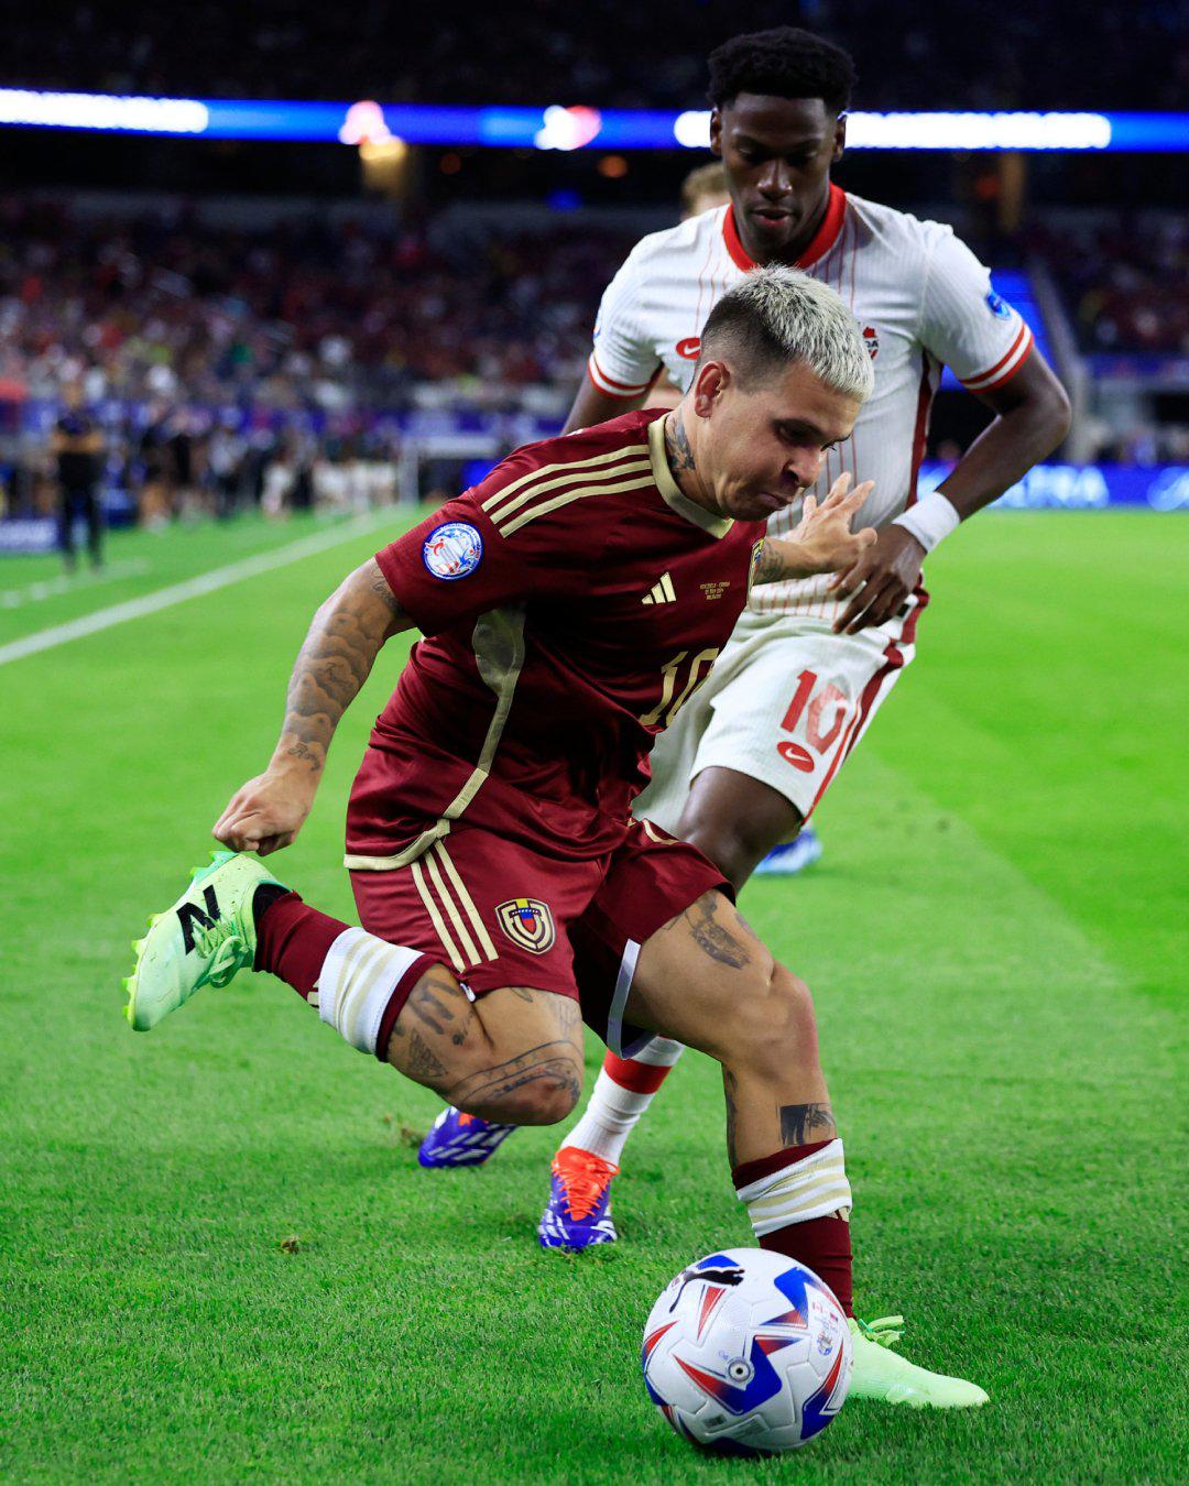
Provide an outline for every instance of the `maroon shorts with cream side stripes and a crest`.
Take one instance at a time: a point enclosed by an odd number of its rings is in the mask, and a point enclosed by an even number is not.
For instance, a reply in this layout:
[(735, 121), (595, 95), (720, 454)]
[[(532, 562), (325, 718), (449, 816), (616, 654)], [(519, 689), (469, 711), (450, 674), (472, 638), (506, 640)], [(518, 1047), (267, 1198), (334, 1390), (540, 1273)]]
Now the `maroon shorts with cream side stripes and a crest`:
[(476, 997), (569, 996), (621, 1057), (651, 1036), (623, 1024), (641, 945), (710, 889), (734, 896), (696, 847), (639, 820), (587, 862), (462, 822), (409, 866), (355, 868), (351, 886), (369, 933), (435, 955)]

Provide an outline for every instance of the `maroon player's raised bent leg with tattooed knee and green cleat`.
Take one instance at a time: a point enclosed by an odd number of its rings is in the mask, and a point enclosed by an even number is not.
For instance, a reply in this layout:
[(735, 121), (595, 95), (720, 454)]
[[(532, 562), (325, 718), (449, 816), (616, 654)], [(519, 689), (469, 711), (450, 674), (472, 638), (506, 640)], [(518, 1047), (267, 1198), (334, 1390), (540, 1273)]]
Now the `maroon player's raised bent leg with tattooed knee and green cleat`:
[[(409, 924), (421, 933), (424, 927)], [(547, 1125), (581, 1091), (577, 1000), (493, 987), (480, 1000), (440, 960), (311, 908), (254, 857), (217, 851), (134, 947), (128, 1019), (155, 1027), (205, 985), (268, 970), (354, 1048), (483, 1119)]]

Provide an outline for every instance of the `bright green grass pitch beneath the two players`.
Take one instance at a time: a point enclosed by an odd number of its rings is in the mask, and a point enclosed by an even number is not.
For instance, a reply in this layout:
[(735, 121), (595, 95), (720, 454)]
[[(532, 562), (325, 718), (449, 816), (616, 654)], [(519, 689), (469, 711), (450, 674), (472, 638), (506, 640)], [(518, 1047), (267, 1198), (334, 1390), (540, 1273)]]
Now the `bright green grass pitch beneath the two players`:
[[(0, 645), (309, 531), (117, 536), (132, 575), (0, 599)], [(308, 617), (375, 545), (0, 666), (0, 1477), (1185, 1480), (1189, 525), (956, 536), (825, 859), (746, 890), (817, 996), (859, 1312), (904, 1312), (913, 1358), (991, 1394), (850, 1403), (761, 1464), (696, 1455), (639, 1378), (660, 1287), (751, 1241), (707, 1060), (629, 1152), (623, 1241), (568, 1260), (534, 1232), (556, 1131), (421, 1171), (434, 1097), (265, 978), (147, 1037), (122, 1019), (129, 939), (265, 765)], [(0, 590), (52, 574), (6, 562)], [(346, 789), (403, 654), (270, 862), (345, 917)]]

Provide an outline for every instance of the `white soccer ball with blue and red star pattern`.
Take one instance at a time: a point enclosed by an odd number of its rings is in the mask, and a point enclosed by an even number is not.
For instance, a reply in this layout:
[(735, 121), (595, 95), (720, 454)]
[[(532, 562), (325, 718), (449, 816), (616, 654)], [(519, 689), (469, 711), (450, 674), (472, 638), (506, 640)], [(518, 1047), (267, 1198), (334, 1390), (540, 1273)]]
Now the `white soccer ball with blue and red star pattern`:
[(795, 1450), (838, 1415), (850, 1330), (804, 1265), (727, 1248), (682, 1269), (644, 1328), (644, 1386), (679, 1435), (724, 1455)]

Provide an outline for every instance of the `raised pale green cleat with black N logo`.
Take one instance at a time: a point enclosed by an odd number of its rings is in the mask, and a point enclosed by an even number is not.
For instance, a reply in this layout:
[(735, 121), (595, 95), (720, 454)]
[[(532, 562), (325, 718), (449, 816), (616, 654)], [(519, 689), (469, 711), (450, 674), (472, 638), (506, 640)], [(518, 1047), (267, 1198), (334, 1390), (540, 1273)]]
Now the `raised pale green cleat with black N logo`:
[(137, 939), (137, 963), (125, 979), (125, 1016), (149, 1031), (204, 985), (227, 985), (256, 958), (253, 898), (263, 883), (284, 887), (254, 856), (213, 851), (210, 866), (196, 866), (190, 886), (163, 914), (153, 914), (149, 933)]

